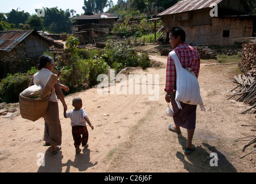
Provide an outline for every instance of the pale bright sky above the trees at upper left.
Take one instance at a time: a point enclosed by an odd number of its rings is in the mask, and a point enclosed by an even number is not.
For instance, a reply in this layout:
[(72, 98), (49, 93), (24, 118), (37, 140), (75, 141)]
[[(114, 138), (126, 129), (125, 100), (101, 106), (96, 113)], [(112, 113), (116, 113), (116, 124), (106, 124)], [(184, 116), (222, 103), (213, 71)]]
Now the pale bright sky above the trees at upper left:
[[(112, 0), (116, 5), (118, 0)], [(12, 9), (28, 12), (29, 14), (36, 14), (35, 9), (42, 9), (42, 7), (58, 7), (58, 9), (66, 10), (73, 9), (77, 11), (77, 14), (84, 13), (82, 6), (84, 6), (84, 0), (0, 0), (0, 13), (8, 13)]]

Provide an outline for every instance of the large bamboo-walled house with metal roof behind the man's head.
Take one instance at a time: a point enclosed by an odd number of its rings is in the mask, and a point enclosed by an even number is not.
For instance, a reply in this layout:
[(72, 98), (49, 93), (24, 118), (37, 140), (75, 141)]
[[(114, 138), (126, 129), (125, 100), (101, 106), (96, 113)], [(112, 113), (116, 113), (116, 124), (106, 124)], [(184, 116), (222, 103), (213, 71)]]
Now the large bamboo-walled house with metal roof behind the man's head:
[(256, 15), (245, 0), (185, 0), (158, 14), (169, 29), (183, 26), (191, 45), (240, 45), (256, 36)]

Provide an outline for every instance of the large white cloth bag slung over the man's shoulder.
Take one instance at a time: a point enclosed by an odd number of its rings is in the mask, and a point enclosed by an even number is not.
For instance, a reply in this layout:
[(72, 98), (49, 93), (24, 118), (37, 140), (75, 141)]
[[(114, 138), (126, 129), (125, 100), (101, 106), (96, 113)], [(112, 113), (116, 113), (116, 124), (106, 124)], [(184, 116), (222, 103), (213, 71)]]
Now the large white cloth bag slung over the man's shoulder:
[(170, 52), (176, 68), (176, 97), (175, 102), (179, 109), (182, 109), (180, 102), (190, 105), (200, 105), (201, 110), (205, 111), (204, 104), (200, 95), (200, 87), (197, 77), (185, 70), (180, 64), (175, 51)]

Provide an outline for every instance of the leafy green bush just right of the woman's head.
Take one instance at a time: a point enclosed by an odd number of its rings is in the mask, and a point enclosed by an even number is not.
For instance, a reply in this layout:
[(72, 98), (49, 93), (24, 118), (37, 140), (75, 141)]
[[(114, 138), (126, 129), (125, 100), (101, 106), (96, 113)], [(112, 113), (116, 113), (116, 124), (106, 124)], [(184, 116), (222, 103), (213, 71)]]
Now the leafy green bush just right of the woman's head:
[(88, 85), (96, 85), (97, 75), (105, 74), (108, 68), (108, 64), (101, 57), (103, 53), (101, 50), (76, 48), (73, 51), (73, 55), (63, 53), (61, 57), (58, 57), (55, 64), (55, 73), (65, 66), (59, 79), (61, 83), (69, 86), (70, 92), (63, 92), (64, 94), (86, 89)]

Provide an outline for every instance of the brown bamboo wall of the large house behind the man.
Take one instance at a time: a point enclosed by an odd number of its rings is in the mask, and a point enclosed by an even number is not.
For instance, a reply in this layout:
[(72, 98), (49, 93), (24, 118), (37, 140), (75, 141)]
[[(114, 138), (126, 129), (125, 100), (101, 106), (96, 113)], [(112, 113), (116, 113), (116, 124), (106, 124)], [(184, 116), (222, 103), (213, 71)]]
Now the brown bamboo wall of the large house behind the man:
[[(253, 36), (254, 19), (250, 17), (207, 18), (203, 11), (195, 11), (192, 16), (190, 20), (182, 21), (174, 21), (174, 15), (164, 17), (164, 38), (167, 43), (168, 29), (172, 26), (183, 26), (187, 34), (186, 42), (191, 45), (235, 45), (235, 42), (243, 43), (244, 37)], [(229, 32), (229, 37), (224, 37), (225, 30)]]

